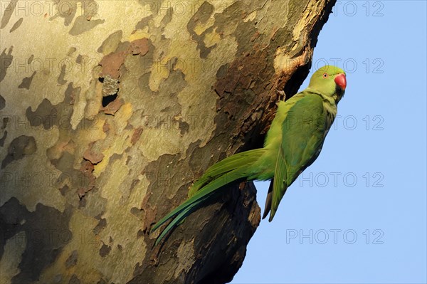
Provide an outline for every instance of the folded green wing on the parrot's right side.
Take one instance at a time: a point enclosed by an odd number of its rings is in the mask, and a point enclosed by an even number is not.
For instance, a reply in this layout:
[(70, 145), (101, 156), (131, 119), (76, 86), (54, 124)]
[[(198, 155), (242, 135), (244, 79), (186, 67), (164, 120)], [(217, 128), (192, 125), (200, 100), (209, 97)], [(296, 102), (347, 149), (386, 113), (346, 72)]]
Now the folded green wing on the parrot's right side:
[(288, 186), (319, 155), (329, 129), (320, 95), (301, 93), (295, 100), (282, 125), (282, 144), (275, 164), (269, 221), (273, 220)]

